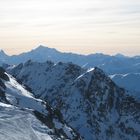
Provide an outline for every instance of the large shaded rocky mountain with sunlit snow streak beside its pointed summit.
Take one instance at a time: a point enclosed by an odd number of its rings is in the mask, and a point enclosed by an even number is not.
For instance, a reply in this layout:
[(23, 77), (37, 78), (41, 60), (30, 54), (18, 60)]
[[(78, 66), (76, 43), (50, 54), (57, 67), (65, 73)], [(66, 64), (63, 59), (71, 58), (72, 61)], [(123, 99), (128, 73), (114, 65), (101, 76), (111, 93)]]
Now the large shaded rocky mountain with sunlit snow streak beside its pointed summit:
[(85, 140), (140, 138), (140, 101), (101, 69), (30, 60), (9, 72), (30, 87), (35, 97), (61, 110), (64, 120)]

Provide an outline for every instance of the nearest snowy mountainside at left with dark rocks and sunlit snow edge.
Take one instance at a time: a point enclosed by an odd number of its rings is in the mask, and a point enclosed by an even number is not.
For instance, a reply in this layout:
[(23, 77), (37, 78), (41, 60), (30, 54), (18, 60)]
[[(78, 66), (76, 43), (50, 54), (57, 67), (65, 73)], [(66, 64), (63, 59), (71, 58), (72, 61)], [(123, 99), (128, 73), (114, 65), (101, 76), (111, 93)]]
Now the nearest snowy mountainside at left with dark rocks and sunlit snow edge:
[(1, 140), (80, 140), (58, 109), (33, 97), (0, 68)]

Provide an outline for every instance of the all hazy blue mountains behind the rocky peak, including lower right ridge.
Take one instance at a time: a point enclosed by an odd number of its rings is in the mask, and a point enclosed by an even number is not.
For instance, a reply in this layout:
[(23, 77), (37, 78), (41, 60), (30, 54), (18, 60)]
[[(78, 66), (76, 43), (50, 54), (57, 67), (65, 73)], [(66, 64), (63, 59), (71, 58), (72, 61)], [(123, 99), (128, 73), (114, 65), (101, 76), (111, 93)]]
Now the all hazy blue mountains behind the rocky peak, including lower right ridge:
[[(4, 51), (0, 52), (0, 64), (19, 64), (28, 60), (45, 62), (51, 60), (57, 62), (72, 62), (83, 68), (99, 67), (103, 69), (119, 86), (135, 93), (140, 97), (140, 56), (128, 57), (122, 54), (114, 56), (101, 53), (79, 55), (74, 53), (62, 53), (56, 49), (39, 46), (38, 48), (19, 55), (8, 56)], [(7, 67), (7, 65), (4, 65)]]

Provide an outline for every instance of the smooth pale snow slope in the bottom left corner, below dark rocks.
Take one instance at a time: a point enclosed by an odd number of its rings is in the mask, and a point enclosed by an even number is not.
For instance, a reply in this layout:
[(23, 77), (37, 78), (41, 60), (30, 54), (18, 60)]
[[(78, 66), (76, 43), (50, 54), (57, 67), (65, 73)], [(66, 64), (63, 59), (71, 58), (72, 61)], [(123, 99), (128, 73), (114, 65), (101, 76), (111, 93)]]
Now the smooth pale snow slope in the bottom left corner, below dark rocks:
[(30, 111), (0, 103), (1, 140), (53, 140), (49, 133), (50, 129)]

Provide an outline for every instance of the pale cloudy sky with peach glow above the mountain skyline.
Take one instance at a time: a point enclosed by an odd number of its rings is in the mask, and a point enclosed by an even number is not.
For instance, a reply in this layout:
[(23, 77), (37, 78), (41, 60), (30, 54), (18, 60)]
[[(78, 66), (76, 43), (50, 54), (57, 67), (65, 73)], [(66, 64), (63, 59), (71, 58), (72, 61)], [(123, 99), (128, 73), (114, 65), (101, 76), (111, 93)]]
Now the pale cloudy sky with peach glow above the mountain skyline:
[(0, 0), (0, 48), (140, 55), (140, 0)]

